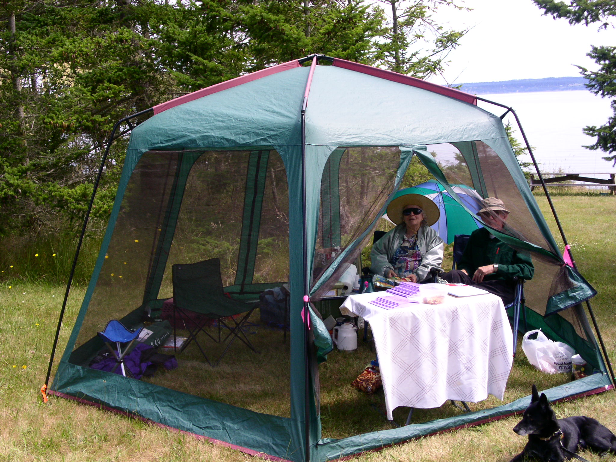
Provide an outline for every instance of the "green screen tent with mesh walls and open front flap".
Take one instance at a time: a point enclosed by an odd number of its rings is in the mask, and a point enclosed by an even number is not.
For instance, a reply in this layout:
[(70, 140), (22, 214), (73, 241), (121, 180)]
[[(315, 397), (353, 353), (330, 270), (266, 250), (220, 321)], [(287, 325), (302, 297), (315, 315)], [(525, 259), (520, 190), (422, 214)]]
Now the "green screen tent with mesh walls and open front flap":
[[(511, 210), (511, 232), (498, 236), (532, 254), (535, 277), (525, 289), (529, 325), (567, 342), (599, 371), (550, 389), (549, 399), (611, 387), (581, 306), (594, 290), (565, 264), (501, 119), (477, 107), (473, 95), (312, 56), (145, 112), (153, 115), (136, 126), (128, 118), (132, 132), (115, 205), (52, 394), (292, 461), (330, 460), (522, 410), (528, 399), (429, 423), (322, 438), (317, 359), (331, 350), (331, 339), (314, 302), (355, 261), (413, 155), (452, 197), (449, 185), (464, 184), (482, 197), (501, 198)], [(430, 153), (452, 146), (464, 168), (440, 169)], [(170, 372), (160, 382), (88, 367), (103, 346), (96, 333), (108, 320), (137, 326), (144, 315), (160, 314), (172, 296), (171, 265), (208, 257), (221, 259), (232, 298), (254, 300), (288, 282), (285, 362), (268, 362), (274, 355), (261, 351), (249, 352), (249, 362), (241, 363), (244, 353), (237, 351), (238, 359), (209, 368), (182, 354), (177, 375)], [(278, 378), (269, 411), (241, 403), (251, 393), (246, 364), (252, 363)], [(236, 364), (243, 376), (225, 376)], [(192, 392), (214, 382), (224, 384), (217, 394)], [(240, 398), (225, 402), (231, 389)]]

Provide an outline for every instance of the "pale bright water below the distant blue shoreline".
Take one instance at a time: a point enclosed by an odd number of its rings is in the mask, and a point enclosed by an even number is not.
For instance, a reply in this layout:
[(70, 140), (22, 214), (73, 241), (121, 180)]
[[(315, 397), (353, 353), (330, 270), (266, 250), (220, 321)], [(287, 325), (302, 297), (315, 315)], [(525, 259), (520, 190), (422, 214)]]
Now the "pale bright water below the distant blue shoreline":
[[(612, 115), (609, 98), (601, 98), (589, 91), (479, 96), (504, 104), (516, 111), (526, 137), (533, 147), (533, 154), (541, 172), (616, 173), (616, 167), (612, 167), (612, 162), (601, 159), (606, 153), (582, 147), (594, 143), (594, 138), (583, 134), (582, 129), (587, 125), (600, 126)], [(498, 116), (505, 112), (505, 109), (488, 103), (479, 102), (478, 105)], [(503, 121), (511, 123), (516, 129), (514, 136), (524, 144), (521, 134), (517, 131), (515, 118), (507, 115)], [(524, 157), (521, 159), (530, 161), (530, 156)]]

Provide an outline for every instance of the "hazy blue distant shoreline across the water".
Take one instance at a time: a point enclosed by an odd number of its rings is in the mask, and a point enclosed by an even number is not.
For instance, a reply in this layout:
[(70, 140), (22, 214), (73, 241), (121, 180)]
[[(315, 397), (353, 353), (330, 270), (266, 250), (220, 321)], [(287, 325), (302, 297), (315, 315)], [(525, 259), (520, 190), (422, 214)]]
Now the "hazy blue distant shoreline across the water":
[(548, 77), (543, 79), (506, 80), (503, 82), (463, 83), (460, 90), (474, 95), (527, 93), (535, 91), (586, 90), (586, 79), (580, 77)]

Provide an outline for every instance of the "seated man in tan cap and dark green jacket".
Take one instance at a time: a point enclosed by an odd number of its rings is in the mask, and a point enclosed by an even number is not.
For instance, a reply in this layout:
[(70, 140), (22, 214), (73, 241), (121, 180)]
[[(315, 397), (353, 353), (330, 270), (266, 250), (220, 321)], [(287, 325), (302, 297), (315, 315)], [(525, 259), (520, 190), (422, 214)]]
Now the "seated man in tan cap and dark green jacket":
[[(484, 200), (484, 208), (477, 212), (485, 224), (501, 231), (509, 211), (503, 201), (495, 197)], [(474, 285), (498, 295), (508, 305), (515, 297), (516, 280), (532, 279), (534, 272), (530, 255), (518, 252), (490, 233), (488, 228), (472, 232), (458, 269), (441, 277), (447, 282)]]

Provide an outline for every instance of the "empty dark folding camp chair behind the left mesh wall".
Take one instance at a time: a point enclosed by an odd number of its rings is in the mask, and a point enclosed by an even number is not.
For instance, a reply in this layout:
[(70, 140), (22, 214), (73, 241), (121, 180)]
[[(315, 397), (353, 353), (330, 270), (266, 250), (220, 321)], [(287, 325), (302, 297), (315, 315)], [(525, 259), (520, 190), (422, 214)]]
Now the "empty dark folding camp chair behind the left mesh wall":
[[(258, 302), (248, 304), (225, 296), (222, 286), (220, 259), (211, 258), (197, 263), (175, 264), (171, 269), (173, 280), (174, 338), (177, 338), (175, 328), (177, 323), (175, 320), (178, 312), (184, 315), (187, 315), (187, 312), (205, 315), (204, 318), (193, 323), (192, 326), (186, 326), (188, 339), (182, 345), (182, 351), (194, 341), (205, 360), (211, 366), (218, 365), (235, 339), (240, 339), (252, 351), (257, 353), (248, 337), (246, 337), (242, 327), (253, 310), (258, 306)], [(243, 316), (238, 321), (238, 315), (242, 314)], [(214, 338), (205, 330), (206, 325), (209, 324), (208, 321), (211, 319), (217, 321), (218, 338)], [(221, 335), (222, 327), (229, 330), (225, 338), (222, 338)], [(197, 340), (197, 334), (200, 332), (203, 332), (217, 343), (224, 343), (230, 338), (224, 351), (214, 363), (210, 362), (208, 355), (206, 355)]]

